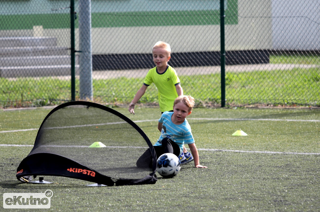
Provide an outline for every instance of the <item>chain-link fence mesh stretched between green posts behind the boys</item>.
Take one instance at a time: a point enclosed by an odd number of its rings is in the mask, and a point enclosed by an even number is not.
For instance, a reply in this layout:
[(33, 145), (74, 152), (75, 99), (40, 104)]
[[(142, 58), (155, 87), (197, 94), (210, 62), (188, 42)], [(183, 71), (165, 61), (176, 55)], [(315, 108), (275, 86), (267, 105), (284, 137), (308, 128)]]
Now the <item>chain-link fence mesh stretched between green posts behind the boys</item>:
[[(86, 18), (91, 19), (91, 39), (81, 33), (83, 2), (91, 3)], [(70, 5), (64, 0), (2, 1), (0, 107), (71, 100)], [(75, 1), (75, 99), (82, 97), (81, 73), (88, 71), (82, 56), (89, 53), (89, 99), (129, 104), (155, 66), (153, 45), (162, 40), (171, 45), (169, 64), (184, 93), (199, 105), (220, 106), (224, 39), (227, 106), (319, 106), (319, 2), (226, 0), (224, 9), (223, 38), (220, 1)], [(88, 40), (89, 52), (81, 49)], [(152, 84), (140, 103), (156, 104), (157, 98)]]

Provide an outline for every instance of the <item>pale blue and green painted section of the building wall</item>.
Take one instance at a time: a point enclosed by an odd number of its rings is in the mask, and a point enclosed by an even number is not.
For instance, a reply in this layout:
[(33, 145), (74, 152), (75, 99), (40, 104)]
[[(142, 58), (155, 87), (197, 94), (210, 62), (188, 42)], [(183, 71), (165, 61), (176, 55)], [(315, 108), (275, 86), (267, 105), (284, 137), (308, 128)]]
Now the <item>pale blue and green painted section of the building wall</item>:
[[(148, 6), (152, 2), (161, 0), (116, 0), (92, 1), (92, 27), (132, 27), (132, 26), (191, 26), (191, 25), (219, 25), (220, 11), (215, 0), (180, 0), (177, 2), (180, 10), (174, 8), (172, 1), (161, 10), (150, 7), (143, 11), (141, 5)], [(194, 8), (192, 3), (204, 2), (201, 7)], [(178, 4), (174, 1), (174, 4)], [(3, 3), (3, 1), (2, 1)], [(37, 4), (38, 3), (38, 4)], [(136, 5), (135, 7), (130, 6)], [(226, 1), (226, 24), (238, 23), (237, 0)], [(185, 6), (183, 6), (185, 5)], [(219, 4), (218, 4), (219, 5)], [(44, 29), (70, 28), (70, 14), (68, 1), (60, 0), (26, 0), (4, 1), (0, 4), (0, 30), (32, 29), (33, 26), (43, 26)], [(220, 6), (220, 5), (219, 5)], [(37, 8), (38, 7), (38, 8)], [(18, 8), (13, 10), (12, 8)], [(122, 8), (121, 10), (118, 8)], [(140, 11), (139, 11), (140, 8)], [(206, 8), (204, 10), (204, 8)], [(78, 9), (76, 1), (75, 11)], [(193, 10), (191, 10), (193, 9)], [(113, 11), (112, 11), (113, 10)], [(6, 11), (6, 12), (5, 12)], [(33, 13), (32, 13), (33, 12)], [(14, 13), (14, 14), (13, 14)], [(75, 22), (78, 27), (78, 19)]]

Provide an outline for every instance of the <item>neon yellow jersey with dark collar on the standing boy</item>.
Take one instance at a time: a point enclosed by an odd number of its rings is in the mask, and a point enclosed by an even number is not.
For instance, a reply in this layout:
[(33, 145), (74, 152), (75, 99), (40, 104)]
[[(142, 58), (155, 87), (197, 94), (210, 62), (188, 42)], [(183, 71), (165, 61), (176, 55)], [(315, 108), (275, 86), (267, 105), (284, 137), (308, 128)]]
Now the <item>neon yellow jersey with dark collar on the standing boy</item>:
[(151, 83), (154, 83), (158, 89), (160, 111), (173, 110), (173, 102), (178, 97), (175, 86), (180, 84), (176, 71), (169, 65), (161, 74), (158, 73), (156, 67), (150, 69), (143, 84), (149, 86)]

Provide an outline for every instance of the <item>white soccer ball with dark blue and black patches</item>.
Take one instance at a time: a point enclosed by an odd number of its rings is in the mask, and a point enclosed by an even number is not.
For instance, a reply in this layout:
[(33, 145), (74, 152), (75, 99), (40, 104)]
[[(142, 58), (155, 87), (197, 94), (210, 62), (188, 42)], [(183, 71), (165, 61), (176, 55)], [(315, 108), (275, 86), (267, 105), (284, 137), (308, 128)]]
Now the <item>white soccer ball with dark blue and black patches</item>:
[(172, 153), (164, 153), (157, 160), (156, 171), (164, 178), (176, 176), (181, 168), (179, 158)]

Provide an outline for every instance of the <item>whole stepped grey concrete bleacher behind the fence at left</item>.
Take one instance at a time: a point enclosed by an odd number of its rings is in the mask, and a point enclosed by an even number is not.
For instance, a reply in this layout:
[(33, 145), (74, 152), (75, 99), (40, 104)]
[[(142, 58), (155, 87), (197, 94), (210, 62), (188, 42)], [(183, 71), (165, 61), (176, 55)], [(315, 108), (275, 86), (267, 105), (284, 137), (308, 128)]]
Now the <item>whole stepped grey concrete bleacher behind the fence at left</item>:
[[(75, 58), (79, 74), (78, 58)], [(0, 38), (0, 77), (70, 76), (70, 49), (54, 37)]]

